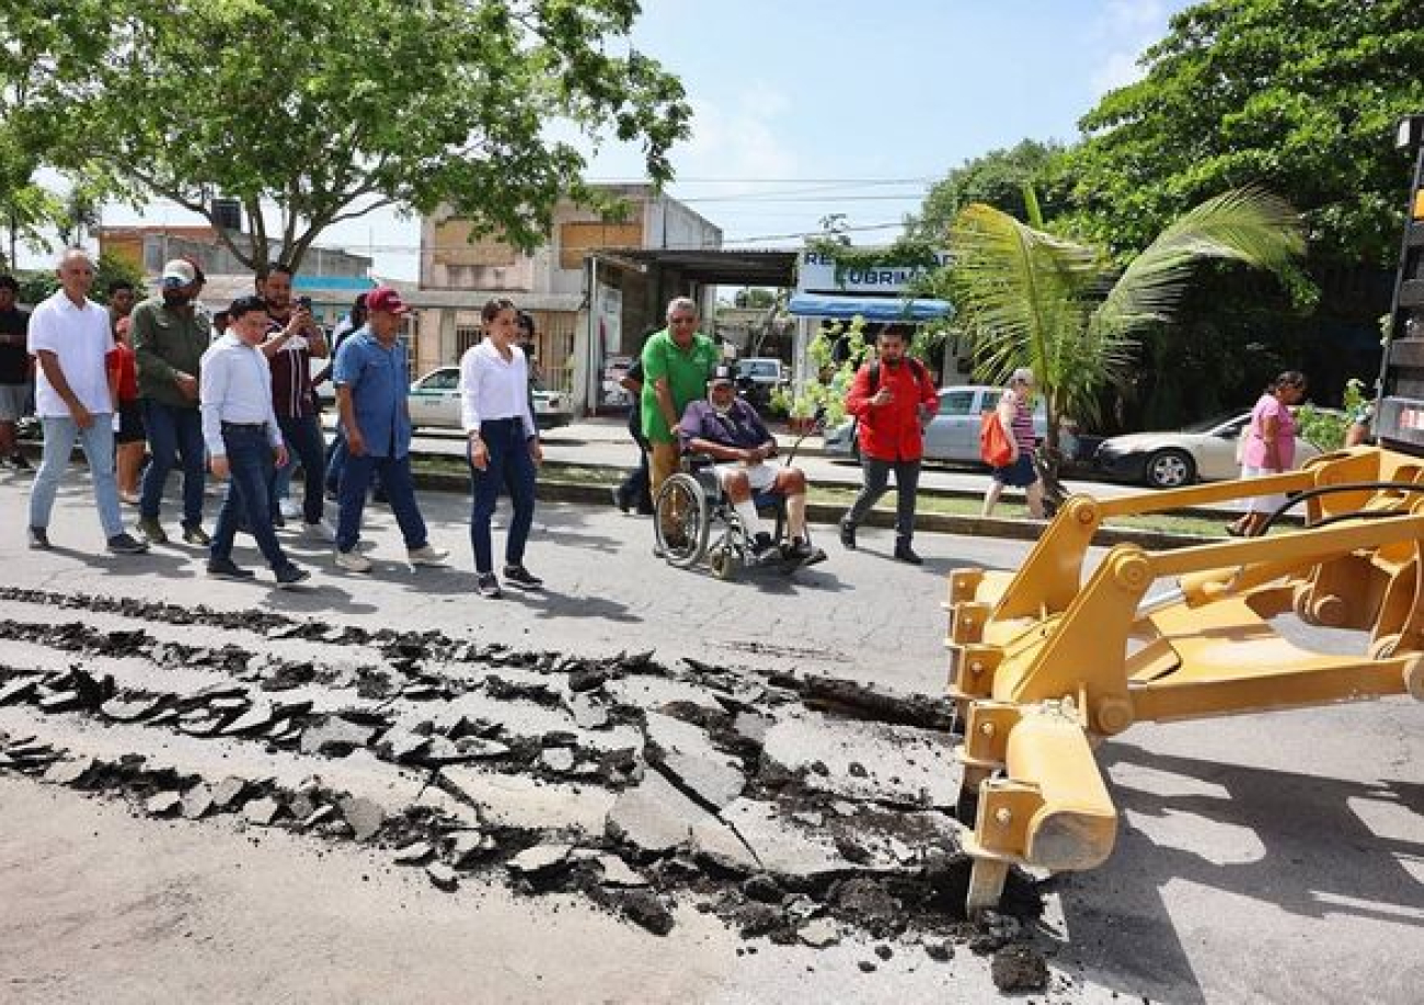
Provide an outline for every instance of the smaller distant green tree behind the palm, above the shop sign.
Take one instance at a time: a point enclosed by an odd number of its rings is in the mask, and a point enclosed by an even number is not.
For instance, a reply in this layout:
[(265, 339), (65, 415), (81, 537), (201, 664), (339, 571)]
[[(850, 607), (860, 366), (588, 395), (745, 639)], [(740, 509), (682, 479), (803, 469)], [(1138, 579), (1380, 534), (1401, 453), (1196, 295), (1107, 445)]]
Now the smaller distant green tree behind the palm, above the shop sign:
[(1024, 140), (1008, 149), (993, 149), (965, 161), (937, 182), (924, 198), (911, 229), (923, 236), (943, 235), (964, 206), (981, 202), (1024, 219), (1028, 206), (1024, 186), (1040, 196), (1047, 219), (1068, 209), (1067, 151), (1054, 141)]

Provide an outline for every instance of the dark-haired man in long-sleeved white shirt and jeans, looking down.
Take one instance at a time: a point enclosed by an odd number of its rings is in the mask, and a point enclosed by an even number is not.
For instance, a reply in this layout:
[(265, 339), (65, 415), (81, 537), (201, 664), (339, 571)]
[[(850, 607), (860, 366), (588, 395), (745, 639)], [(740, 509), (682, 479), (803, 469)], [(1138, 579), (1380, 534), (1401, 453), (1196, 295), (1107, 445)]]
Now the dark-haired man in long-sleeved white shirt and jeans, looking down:
[(202, 440), (212, 474), (228, 480), (228, 494), (208, 547), (208, 575), (251, 579), (252, 571), (232, 561), (232, 540), (244, 521), (279, 588), (309, 579), (282, 551), (272, 527), (272, 470), (286, 463), (286, 444), (272, 410), (272, 373), (258, 346), (268, 333), (266, 302), (242, 296), (228, 307), (226, 333), (199, 363), (198, 407)]

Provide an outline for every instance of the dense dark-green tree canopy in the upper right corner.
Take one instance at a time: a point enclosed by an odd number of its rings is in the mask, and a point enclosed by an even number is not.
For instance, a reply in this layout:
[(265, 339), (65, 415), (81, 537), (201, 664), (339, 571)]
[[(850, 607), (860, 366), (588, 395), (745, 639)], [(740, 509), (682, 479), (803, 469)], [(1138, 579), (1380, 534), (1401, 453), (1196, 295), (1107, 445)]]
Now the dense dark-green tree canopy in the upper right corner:
[(1081, 122), (1081, 232), (1134, 252), (1203, 198), (1262, 185), (1300, 209), (1317, 261), (1393, 265), (1408, 169), (1394, 124), (1424, 111), (1424, 4), (1205, 0), (1142, 65)]

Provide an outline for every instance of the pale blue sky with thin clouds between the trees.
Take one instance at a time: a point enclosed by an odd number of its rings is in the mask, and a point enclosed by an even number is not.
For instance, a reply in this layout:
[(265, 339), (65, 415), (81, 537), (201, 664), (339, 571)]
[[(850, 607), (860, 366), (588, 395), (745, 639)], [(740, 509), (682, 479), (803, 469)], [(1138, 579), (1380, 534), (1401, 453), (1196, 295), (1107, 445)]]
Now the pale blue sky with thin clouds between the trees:
[[(1131, 81), (1138, 56), (1188, 0), (644, 0), (634, 44), (676, 73), (693, 135), (671, 194), (726, 242), (793, 246), (844, 214), (857, 243), (894, 239), (934, 179), (1025, 137), (1069, 141), (1078, 118)], [(641, 177), (612, 145), (595, 181)], [(197, 222), (151, 206), (147, 222)], [(124, 211), (105, 222), (132, 222)], [(329, 231), (413, 279), (419, 228), (390, 214)]]

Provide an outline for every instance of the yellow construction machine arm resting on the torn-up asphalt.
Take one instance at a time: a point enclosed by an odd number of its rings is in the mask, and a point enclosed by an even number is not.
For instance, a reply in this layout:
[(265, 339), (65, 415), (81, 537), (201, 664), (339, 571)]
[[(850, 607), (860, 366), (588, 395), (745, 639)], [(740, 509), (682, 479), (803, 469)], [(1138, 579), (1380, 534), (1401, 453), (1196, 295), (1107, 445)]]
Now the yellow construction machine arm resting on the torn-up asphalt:
[[(1299, 493), (1304, 530), (1176, 551), (1112, 548), (1108, 518)], [(1357, 448), (1297, 473), (1099, 503), (1072, 497), (1014, 575), (950, 574), (950, 695), (964, 723), (968, 908), (1010, 865), (1087, 870), (1116, 810), (1092, 750), (1135, 722), (1410, 693), (1424, 700), (1424, 463)], [(1302, 649), (1272, 625), (1368, 632), (1360, 656)]]

